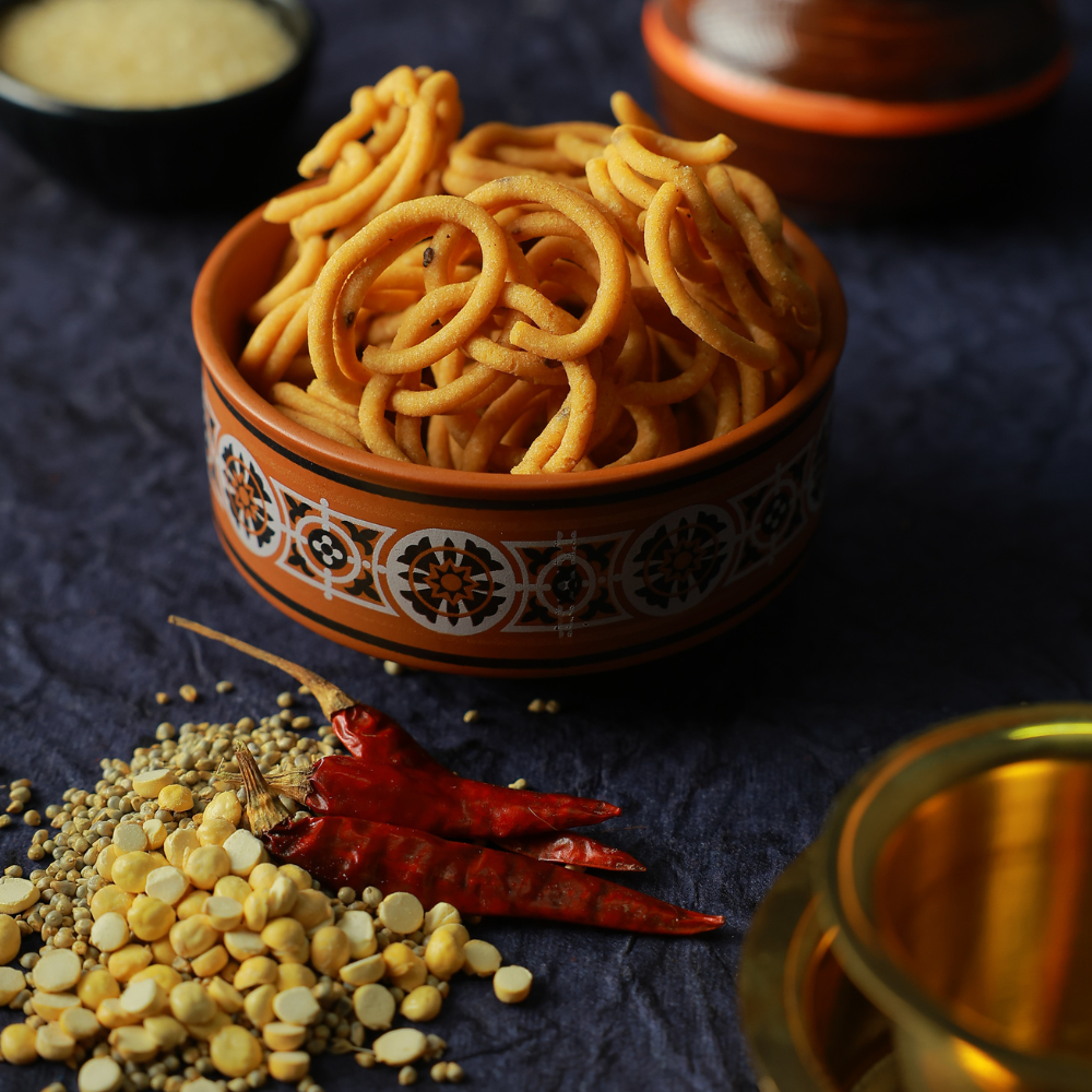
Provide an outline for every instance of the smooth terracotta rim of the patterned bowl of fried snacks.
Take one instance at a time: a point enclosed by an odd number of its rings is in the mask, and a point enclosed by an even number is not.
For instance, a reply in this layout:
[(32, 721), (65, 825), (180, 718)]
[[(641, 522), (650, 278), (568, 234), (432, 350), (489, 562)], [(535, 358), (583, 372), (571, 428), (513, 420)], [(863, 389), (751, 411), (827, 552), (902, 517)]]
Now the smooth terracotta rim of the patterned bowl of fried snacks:
[(438, 503), (448, 506), (461, 499), (473, 501), (475, 507), (525, 507), (536, 502), (557, 507), (560, 503), (591, 503), (604, 494), (614, 499), (618, 492), (653, 485), (674, 487), (688, 472), (697, 472), (703, 477), (714, 468), (723, 468), (733, 455), (743, 459), (753, 448), (774, 442), (806, 416), (826, 393), (845, 343), (845, 299), (838, 276), (819, 248), (786, 219), (785, 236), (799, 260), (802, 272), (819, 296), (823, 334), (807, 375), (755, 420), (716, 440), (673, 455), (583, 474), (523, 476), (399, 463), (370, 452), (352, 451), (289, 420), (236, 369), (213, 321), (213, 299), (229, 257), (246, 245), (248, 236), (262, 223), (261, 214), (262, 209), (256, 209), (224, 236), (205, 261), (193, 289), (193, 334), (210, 378), (224, 401), (249, 420), (266, 441), (340, 476), (354, 482), (379, 483), (395, 491), (412, 494), (423, 502), (435, 498)]

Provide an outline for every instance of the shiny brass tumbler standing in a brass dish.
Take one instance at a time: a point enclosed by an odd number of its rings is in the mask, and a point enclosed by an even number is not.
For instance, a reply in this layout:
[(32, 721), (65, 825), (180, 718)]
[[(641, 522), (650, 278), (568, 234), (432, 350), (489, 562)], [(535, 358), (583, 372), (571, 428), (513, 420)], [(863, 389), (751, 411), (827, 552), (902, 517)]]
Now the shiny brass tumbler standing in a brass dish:
[(1092, 1090), (1092, 707), (897, 746), (839, 797), (812, 878), (905, 1092)]

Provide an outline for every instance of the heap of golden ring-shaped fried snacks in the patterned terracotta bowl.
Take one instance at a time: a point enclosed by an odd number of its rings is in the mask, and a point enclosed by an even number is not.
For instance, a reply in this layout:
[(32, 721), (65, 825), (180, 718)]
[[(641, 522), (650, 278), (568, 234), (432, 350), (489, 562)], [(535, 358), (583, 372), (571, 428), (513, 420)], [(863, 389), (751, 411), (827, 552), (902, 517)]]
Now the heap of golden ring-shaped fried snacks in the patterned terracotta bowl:
[[(265, 217), (292, 239), (240, 371), (294, 423), (444, 470), (583, 473), (724, 436), (820, 336), (776, 198), (720, 134), (489, 122), (447, 72), (353, 96)], [(441, 192), (446, 191), (446, 192)]]

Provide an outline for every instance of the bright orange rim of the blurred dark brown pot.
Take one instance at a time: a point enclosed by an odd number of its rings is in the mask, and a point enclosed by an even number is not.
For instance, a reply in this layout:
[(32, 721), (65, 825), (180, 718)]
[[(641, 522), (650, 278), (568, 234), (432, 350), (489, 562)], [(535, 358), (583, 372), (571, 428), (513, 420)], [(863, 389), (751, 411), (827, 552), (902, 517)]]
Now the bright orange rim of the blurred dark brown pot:
[(641, 31), (653, 63), (699, 98), (755, 121), (830, 136), (931, 136), (1002, 121), (1048, 98), (1072, 64), (1072, 50), (1063, 47), (1041, 72), (1001, 91), (935, 103), (889, 103), (788, 87), (734, 71), (675, 34), (658, 0), (645, 3)]

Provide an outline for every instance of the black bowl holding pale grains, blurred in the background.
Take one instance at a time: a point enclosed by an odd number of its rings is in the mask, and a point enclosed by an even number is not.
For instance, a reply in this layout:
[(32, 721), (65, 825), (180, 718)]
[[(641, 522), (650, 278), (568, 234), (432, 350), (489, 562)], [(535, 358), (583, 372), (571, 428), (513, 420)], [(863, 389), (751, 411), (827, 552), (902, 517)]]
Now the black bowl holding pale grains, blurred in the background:
[(47, 167), (111, 204), (234, 203), (263, 174), (271, 192), (271, 161), (310, 71), (316, 25), (302, 0), (257, 2), (297, 47), (270, 83), (194, 106), (110, 110), (61, 102), (0, 70), (0, 124)]

